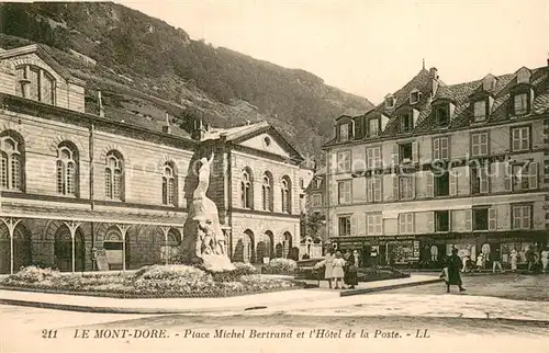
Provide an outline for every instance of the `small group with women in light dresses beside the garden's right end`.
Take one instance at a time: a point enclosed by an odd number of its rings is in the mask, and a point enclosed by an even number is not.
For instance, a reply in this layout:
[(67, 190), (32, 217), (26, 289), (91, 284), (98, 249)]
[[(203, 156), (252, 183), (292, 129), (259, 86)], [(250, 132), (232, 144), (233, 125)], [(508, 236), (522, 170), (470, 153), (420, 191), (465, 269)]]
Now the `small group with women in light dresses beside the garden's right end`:
[[(333, 284), (335, 284), (335, 289), (352, 289), (358, 285), (359, 262), (360, 257), (357, 250), (352, 252), (347, 250), (344, 255), (340, 251), (329, 249), (324, 260), (316, 263), (315, 269), (325, 266), (324, 278), (328, 281), (330, 289)], [(340, 287), (339, 284), (341, 284)]]

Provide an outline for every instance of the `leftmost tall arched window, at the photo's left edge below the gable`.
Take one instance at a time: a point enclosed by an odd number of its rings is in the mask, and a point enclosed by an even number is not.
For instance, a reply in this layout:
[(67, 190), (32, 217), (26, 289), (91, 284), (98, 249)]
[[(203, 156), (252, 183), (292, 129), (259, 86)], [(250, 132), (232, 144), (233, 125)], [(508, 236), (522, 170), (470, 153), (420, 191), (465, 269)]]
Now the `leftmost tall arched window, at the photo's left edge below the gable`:
[(2, 189), (23, 190), (24, 144), (13, 130), (0, 134), (0, 176)]

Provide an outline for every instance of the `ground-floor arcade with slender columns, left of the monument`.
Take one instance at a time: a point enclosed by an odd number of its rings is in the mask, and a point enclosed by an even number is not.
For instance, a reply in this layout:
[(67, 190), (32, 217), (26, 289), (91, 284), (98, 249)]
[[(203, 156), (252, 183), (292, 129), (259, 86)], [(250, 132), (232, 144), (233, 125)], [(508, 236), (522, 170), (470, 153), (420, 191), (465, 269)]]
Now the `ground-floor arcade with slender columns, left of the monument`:
[[(35, 223), (43, 227), (34, 227)], [(105, 255), (109, 270), (126, 271), (130, 246), (133, 266), (169, 264), (180, 251), (182, 229), (182, 224), (169, 223), (1, 216), (0, 274), (13, 274), (32, 264), (64, 272), (98, 270), (98, 253)]]

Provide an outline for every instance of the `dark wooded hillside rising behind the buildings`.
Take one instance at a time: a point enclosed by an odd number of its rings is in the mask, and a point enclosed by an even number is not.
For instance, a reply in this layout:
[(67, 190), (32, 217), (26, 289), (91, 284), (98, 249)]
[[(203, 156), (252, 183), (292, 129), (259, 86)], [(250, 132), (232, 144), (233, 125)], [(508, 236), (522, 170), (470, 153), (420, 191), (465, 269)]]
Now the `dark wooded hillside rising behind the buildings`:
[(0, 24), (1, 47), (45, 44), (87, 80), (90, 112), (100, 88), (108, 106), (150, 118), (200, 114), (223, 127), (267, 119), (301, 152), (321, 157), (334, 117), (372, 107), (310, 72), (192, 41), (114, 3), (0, 3)]

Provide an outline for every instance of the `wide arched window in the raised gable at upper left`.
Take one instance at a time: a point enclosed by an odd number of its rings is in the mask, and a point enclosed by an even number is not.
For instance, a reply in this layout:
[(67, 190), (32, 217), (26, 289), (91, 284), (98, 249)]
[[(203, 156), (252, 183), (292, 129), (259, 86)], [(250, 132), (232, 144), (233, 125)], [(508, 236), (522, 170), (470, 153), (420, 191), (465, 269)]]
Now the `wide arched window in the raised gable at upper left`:
[(23, 65), (15, 68), (15, 75), (16, 95), (55, 104), (55, 79), (49, 72), (36, 66)]

